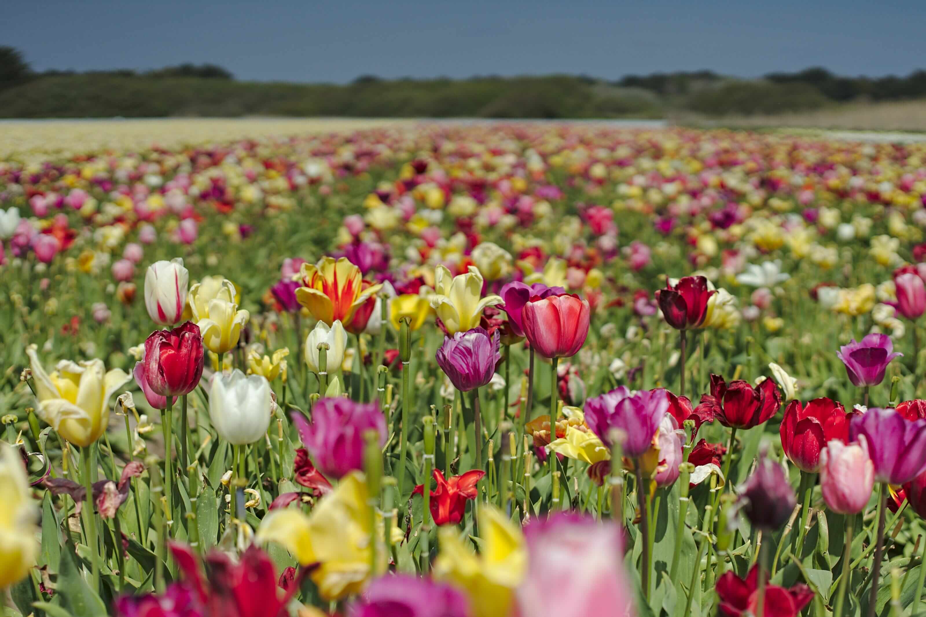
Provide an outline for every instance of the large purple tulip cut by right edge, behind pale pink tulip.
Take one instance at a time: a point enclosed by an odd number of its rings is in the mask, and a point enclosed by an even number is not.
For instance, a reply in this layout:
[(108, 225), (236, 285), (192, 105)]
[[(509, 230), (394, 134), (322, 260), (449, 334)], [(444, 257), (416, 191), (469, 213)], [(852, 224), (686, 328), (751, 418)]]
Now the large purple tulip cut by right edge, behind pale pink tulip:
[(875, 482), (902, 485), (926, 471), (926, 419), (909, 421), (895, 409), (869, 409), (849, 423), (849, 439), (858, 435), (865, 435)]

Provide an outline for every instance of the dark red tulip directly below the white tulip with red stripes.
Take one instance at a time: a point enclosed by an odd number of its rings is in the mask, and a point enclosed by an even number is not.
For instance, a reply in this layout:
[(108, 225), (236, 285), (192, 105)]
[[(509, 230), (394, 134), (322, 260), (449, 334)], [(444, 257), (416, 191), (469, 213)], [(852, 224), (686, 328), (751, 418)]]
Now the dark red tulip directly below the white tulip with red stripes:
[(144, 341), (144, 380), (156, 395), (189, 394), (202, 375), (203, 337), (193, 321), (156, 330)]

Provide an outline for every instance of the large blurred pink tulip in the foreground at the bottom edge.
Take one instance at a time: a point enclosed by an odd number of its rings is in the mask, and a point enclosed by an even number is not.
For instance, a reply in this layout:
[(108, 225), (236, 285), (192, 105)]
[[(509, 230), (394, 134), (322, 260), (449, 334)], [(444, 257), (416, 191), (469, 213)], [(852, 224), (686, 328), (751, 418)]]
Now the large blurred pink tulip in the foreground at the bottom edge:
[(618, 525), (558, 512), (527, 525), (524, 535), (528, 570), (516, 592), (518, 614), (634, 614)]

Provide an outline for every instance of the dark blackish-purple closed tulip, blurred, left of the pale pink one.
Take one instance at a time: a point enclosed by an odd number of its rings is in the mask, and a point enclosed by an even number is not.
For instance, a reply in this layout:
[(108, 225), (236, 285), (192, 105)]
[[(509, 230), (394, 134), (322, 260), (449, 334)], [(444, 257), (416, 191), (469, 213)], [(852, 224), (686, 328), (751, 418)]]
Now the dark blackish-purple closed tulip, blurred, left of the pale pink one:
[(740, 490), (739, 502), (750, 523), (767, 532), (781, 527), (795, 510), (795, 491), (782, 466), (760, 454), (756, 471)]

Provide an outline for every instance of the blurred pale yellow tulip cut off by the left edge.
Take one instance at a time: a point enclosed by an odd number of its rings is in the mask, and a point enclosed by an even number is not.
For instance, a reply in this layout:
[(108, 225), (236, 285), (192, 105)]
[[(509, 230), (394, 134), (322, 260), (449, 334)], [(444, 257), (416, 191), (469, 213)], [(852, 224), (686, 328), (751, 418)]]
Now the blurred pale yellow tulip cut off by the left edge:
[(13, 447), (0, 442), (0, 590), (29, 574), (38, 555), (29, 480)]

